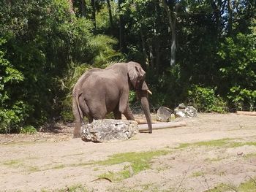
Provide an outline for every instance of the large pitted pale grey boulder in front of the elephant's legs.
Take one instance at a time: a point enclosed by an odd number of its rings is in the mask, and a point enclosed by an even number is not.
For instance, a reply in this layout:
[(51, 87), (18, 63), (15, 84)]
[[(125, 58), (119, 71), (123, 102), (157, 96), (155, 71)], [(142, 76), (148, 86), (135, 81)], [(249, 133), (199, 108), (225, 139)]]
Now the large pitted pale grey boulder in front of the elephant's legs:
[(138, 134), (138, 123), (133, 120), (94, 120), (83, 126), (81, 138), (86, 142), (123, 140)]

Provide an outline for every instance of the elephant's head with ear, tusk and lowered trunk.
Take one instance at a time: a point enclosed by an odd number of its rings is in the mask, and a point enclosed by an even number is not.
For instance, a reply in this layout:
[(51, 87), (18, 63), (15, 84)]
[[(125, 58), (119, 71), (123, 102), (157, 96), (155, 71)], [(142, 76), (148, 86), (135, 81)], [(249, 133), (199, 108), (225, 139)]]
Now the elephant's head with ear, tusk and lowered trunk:
[(129, 81), (131, 82), (132, 88), (136, 91), (138, 99), (140, 99), (143, 111), (146, 116), (148, 123), (148, 132), (152, 133), (151, 115), (148, 104), (148, 85), (146, 85), (145, 77), (146, 72), (142, 69), (140, 64), (135, 62), (129, 62), (127, 64)]

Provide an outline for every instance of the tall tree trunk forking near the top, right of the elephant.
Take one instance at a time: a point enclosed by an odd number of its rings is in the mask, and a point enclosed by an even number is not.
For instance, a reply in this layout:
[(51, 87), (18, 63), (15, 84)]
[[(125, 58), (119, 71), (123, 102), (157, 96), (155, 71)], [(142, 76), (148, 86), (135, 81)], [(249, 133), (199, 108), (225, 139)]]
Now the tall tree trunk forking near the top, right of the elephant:
[(175, 12), (173, 12), (173, 14), (171, 14), (171, 11), (166, 4), (166, 0), (162, 0), (162, 5), (167, 12), (167, 18), (171, 31), (170, 66), (173, 66), (176, 64), (176, 12), (178, 9), (178, 4), (175, 5)]

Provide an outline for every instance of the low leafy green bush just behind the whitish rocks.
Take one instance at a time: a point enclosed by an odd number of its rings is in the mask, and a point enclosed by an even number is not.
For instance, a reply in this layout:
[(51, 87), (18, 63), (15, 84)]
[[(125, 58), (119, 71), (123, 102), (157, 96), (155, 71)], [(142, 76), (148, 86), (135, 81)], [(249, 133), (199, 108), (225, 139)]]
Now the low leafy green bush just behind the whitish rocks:
[(198, 85), (189, 90), (189, 101), (200, 112), (225, 112), (226, 104), (221, 97), (216, 96), (214, 89)]

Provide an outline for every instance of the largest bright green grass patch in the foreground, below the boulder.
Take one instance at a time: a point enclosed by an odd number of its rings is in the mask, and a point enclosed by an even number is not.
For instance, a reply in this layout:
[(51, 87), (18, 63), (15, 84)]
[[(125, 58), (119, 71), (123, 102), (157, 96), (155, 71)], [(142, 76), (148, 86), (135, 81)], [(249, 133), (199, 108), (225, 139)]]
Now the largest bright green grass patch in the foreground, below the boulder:
[(102, 166), (109, 166), (115, 164), (121, 164), (124, 162), (130, 163), (130, 166), (124, 166), (124, 170), (121, 172), (108, 172), (105, 174), (99, 175), (99, 177), (107, 177), (112, 181), (120, 181), (125, 178), (131, 177), (132, 174), (138, 174), (143, 170), (150, 169), (151, 164), (150, 161), (152, 158), (161, 155), (167, 155), (170, 151), (167, 150), (156, 150), (156, 151), (147, 151), (147, 152), (130, 152), (130, 153), (118, 153), (116, 155), (110, 156), (109, 159), (105, 161), (94, 162), (94, 164), (99, 164)]

